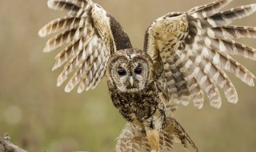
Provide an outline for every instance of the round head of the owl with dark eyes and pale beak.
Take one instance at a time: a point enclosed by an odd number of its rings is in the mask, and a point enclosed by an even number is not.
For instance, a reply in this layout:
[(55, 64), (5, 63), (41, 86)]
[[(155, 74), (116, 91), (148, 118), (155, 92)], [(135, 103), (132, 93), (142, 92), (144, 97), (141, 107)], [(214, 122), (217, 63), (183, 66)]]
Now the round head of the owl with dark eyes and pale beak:
[(154, 82), (152, 59), (146, 51), (118, 50), (109, 59), (106, 78), (111, 89), (128, 93), (144, 90)]

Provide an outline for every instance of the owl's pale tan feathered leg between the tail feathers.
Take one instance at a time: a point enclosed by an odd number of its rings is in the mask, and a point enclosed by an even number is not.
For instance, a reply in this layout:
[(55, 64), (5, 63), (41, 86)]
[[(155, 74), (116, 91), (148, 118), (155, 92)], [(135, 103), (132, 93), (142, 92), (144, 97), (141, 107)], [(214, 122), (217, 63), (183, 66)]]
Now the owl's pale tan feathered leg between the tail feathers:
[(160, 152), (159, 148), (159, 132), (156, 129), (151, 129), (148, 126), (145, 126), (146, 130), (146, 138), (148, 142), (150, 143), (151, 152)]

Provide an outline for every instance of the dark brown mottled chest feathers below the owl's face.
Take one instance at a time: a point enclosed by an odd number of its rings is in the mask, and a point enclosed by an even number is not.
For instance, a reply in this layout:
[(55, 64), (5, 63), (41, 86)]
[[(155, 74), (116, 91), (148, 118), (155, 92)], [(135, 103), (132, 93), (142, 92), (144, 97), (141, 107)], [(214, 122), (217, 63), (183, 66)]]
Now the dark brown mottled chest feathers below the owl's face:
[(160, 101), (154, 91), (136, 93), (114, 92), (112, 102), (118, 111), (129, 122), (143, 122), (150, 118), (158, 109)]

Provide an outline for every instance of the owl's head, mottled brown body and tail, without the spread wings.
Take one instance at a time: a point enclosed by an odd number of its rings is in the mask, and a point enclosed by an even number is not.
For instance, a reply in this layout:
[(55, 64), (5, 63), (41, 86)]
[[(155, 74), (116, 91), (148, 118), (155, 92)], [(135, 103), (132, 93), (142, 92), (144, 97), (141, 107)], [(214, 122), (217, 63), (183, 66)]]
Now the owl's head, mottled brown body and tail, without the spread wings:
[(174, 138), (198, 150), (172, 117), (172, 107), (165, 105), (166, 98), (154, 81), (153, 61), (145, 51), (118, 50), (106, 67), (112, 102), (128, 122), (118, 138), (117, 151), (168, 151)]

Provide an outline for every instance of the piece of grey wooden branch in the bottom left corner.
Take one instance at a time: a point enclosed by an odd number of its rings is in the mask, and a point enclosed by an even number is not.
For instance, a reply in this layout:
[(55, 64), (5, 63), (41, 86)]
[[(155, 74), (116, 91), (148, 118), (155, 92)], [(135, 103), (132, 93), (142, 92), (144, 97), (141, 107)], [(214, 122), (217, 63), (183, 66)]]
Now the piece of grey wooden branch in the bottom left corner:
[(0, 137), (0, 152), (27, 152), (22, 150), (18, 146), (10, 142), (10, 137), (8, 134), (4, 134), (3, 138)]

